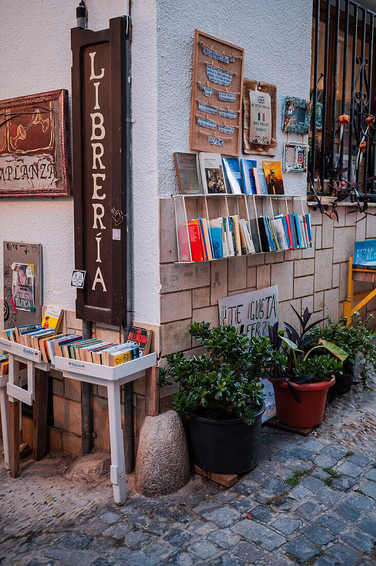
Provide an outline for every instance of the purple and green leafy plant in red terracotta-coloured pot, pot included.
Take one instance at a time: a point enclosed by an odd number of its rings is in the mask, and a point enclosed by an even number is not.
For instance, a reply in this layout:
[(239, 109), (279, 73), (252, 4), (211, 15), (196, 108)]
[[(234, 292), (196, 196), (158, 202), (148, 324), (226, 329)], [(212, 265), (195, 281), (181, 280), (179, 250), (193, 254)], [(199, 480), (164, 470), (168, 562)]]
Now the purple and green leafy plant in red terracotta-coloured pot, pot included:
[[(293, 308), (293, 307), (292, 307)], [(342, 348), (319, 338), (312, 346), (308, 332), (319, 324), (308, 324), (311, 314), (308, 308), (300, 316), (293, 308), (300, 322), (300, 331), (284, 323), (285, 331), (278, 331), (278, 323), (269, 328), (273, 347), (287, 357), (286, 367), (281, 372), (272, 367), (269, 381), (273, 384), (276, 416), (282, 423), (296, 428), (310, 428), (322, 422), (328, 389), (335, 383), (335, 375), (342, 370), (347, 358)], [(318, 350), (328, 353), (318, 353)]]

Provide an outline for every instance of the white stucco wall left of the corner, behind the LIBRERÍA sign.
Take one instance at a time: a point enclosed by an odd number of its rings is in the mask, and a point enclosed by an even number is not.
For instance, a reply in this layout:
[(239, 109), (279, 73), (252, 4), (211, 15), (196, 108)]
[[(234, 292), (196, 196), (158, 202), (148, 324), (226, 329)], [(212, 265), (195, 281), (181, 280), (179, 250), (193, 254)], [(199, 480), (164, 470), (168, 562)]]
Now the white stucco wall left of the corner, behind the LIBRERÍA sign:
[[(76, 25), (75, 8), (79, 0), (0, 0), (2, 22), (0, 32), (0, 68), (2, 81), (0, 99), (66, 88), (71, 100), (71, 44), (70, 30)], [(110, 18), (128, 13), (127, 0), (87, 0), (88, 27), (103, 29)], [(154, 7), (153, 7), (154, 6)], [(136, 2), (133, 21), (134, 49), (132, 72), (135, 87), (141, 97), (133, 94), (133, 114), (137, 117), (133, 131), (136, 157), (135, 169), (135, 318), (148, 323), (159, 321), (159, 250), (158, 242), (158, 185), (157, 185), (157, 127), (156, 127), (156, 16), (155, 3)], [(20, 17), (20, 14), (22, 17)], [(154, 36), (154, 40), (153, 40)], [(154, 41), (154, 47), (153, 46)], [(144, 48), (147, 44), (147, 49)], [(153, 58), (148, 50), (154, 49)], [(148, 64), (150, 68), (148, 68)], [(144, 72), (154, 79), (152, 95), (144, 91)], [(142, 96), (145, 93), (145, 97)], [(146, 95), (149, 96), (149, 115), (144, 113)], [(150, 100), (153, 100), (150, 104)], [(150, 121), (154, 116), (154, 125)], [(149, 130), (150, 128), (150, 130)], [(151, 132), (154, 132), (154, 137)], [(151, 137), (150, 137), (151, 136)], [(155, 147), (152, 152), (145, 146)], [(142, 156), (142, 158), (141, 158)], [(154, 202), (151, 204), (154, 192)], [(74, 217), (71, 198), (1, 199), (0, 240), (21, 240), (41, 243), (43, 246), (43, 304), (60, 305), (75, 310), (76, 291), (70, 286), (74, 269)], [(143, 228), (137, 228), (142, 221)], [(148, 228), (145, 230), (145, 223)], [(150, 237), (145, 241), (145, 231)], [(0, 265), (2, 265), (2, 245)], [(0, 286), (0, 297), (3, 295)]]

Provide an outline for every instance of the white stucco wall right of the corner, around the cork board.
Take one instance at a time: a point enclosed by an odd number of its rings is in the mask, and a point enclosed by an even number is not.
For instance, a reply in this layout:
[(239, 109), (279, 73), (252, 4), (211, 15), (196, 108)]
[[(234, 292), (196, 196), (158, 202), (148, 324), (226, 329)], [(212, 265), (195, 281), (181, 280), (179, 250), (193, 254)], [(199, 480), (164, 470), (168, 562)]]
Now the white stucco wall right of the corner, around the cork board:
[[(309, 97), (312, 0), (157, 0), (157, 7), (159, 195), (178, 194), (173, 154), (189, 151), (195, 28), (245, 49), (244, 78), (276, 85), (274, 159), (282, 161), (282, 98)], [(263, 159), (257, 157), (258, 164)], [(305, 195), (305, 174), (284, 174), (283, 182), (286, 194)]]

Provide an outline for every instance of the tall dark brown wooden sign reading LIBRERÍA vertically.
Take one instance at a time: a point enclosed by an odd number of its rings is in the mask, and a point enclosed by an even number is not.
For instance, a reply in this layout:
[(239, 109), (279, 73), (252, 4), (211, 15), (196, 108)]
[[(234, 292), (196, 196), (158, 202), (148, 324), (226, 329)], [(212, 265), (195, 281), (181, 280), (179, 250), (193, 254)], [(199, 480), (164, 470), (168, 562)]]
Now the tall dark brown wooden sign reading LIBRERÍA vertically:
[(71, 34), (75, 268), (87, 272), (84, 289), (77, 289), (76, 314), (118, 326), (126, 324), (131, 231), (127, 24), (125, 17), (114, 18), (109, 29), (74, 28)]

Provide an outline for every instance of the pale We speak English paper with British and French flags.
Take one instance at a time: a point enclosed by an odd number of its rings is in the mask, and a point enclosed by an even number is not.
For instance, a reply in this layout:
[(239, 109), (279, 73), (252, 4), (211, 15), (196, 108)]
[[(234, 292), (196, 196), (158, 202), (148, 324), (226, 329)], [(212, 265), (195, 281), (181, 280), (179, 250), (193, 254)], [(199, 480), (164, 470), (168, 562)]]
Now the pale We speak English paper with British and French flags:
[(271, 102), (266, 92), (249, 91), (249, 141), (269, 145), (271, 140)]

